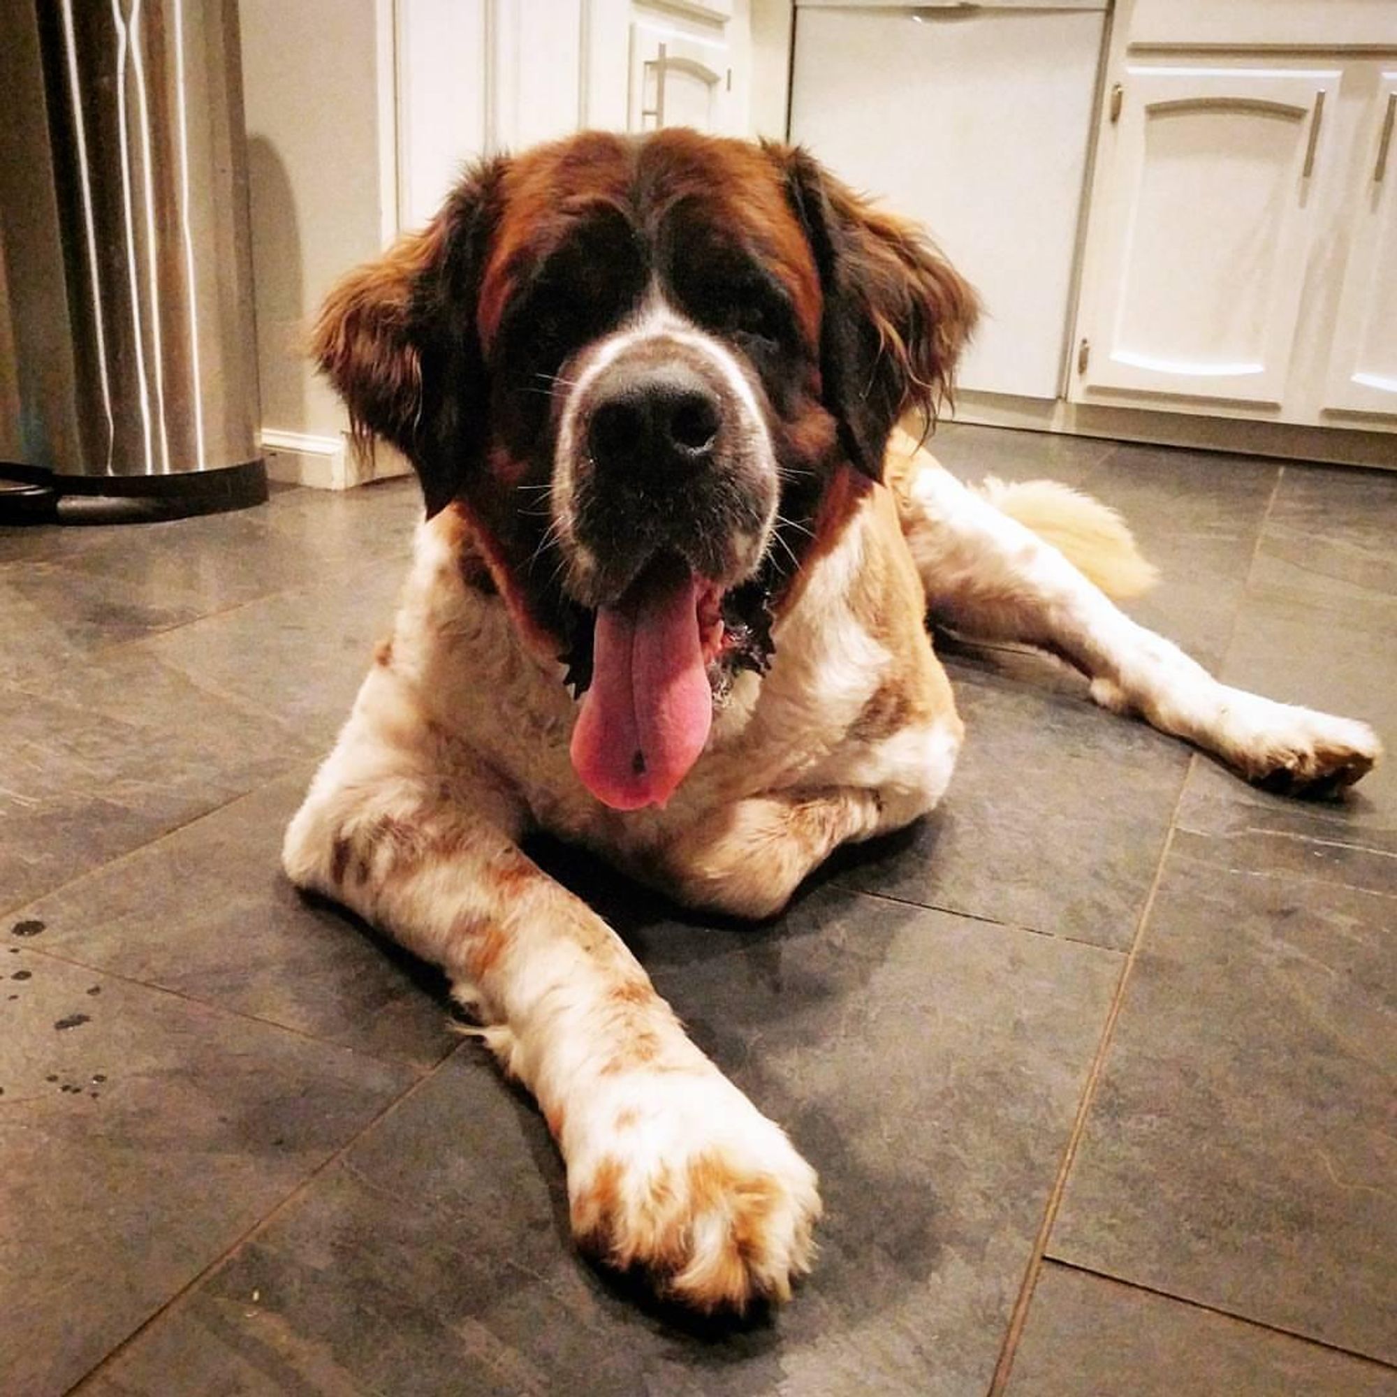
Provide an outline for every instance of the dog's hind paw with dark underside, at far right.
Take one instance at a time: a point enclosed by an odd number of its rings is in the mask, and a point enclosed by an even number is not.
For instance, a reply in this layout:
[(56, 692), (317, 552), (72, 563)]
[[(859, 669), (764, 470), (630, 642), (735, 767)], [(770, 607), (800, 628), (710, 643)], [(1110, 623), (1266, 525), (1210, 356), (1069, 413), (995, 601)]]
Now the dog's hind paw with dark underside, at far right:
[[(1249, 696), (1250, 697), (1250, 696)], [(1383, 754), (1365, 722), (1327, 712), (1257, 701), (1253, 735), (1242, 745), (1241, 767), (1253, 784), (1282, 795), (1329, 795), (1366, 775)]]

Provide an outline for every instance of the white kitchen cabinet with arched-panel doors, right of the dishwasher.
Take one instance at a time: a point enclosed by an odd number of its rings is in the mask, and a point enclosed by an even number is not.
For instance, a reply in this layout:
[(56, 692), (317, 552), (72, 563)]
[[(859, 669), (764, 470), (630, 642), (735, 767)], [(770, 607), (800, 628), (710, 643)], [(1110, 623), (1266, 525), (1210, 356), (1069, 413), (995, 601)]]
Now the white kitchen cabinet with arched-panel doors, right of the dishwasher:
[(1397, 430), (1397, 28), (1315, 14), (1123, 4), (1074, 404)]

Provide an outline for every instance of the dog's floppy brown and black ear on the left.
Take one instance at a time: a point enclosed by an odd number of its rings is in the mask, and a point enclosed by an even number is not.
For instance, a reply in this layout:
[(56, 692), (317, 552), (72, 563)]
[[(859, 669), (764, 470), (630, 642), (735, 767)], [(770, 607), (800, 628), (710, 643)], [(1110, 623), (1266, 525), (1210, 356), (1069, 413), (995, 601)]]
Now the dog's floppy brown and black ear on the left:
[(326, 298), (310, 352), (360, 441), (416, 468), (427, 518), (460, 493), (486, 446), (488, 384), (475, 324), (503, 161), (471, 170), (441, 212)]

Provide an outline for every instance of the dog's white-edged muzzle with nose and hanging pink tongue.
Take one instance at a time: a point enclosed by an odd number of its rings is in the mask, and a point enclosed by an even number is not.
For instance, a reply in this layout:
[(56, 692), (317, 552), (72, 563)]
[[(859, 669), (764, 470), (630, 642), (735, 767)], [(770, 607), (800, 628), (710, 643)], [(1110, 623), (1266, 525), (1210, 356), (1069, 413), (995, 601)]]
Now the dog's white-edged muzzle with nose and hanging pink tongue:
[(724, 599), (771, 538), (770, 433), (733, 356), (698, 331), (604, 344), (573, 387), (553, 509), (595, 612), (573, 767), (617, 810), (664, 805), (708, 739)]

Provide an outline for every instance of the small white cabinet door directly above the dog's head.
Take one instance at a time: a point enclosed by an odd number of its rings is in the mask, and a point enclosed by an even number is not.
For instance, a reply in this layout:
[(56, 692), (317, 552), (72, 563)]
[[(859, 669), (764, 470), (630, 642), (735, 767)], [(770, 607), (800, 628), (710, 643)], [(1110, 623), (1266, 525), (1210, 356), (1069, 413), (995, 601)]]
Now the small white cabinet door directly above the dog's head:
[(630, 27), (630, 130), (692, 126), (728, 133), (732, 66), (728, 43), (654, 24)]

